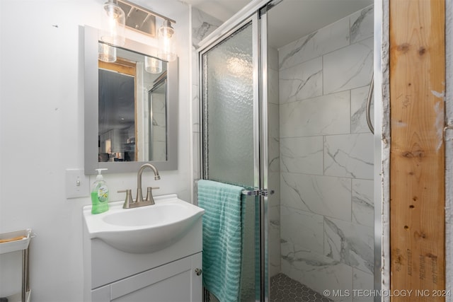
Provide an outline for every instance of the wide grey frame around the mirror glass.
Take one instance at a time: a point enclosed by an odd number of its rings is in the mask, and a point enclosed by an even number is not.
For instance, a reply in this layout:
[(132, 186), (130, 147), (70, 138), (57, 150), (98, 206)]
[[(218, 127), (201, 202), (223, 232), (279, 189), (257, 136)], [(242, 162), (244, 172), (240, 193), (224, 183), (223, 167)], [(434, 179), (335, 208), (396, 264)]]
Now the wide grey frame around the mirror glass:
[[(126, 39), (124, 47), (132, 52), (155, 57), (155, 48)], [(85, 175), (137, 172), (144, 163), (152, 163), (158, 170), (178, 170), (178, 59), (167, 62), (167, 161), (98, 161), (98, 29), (84, 26), (84, 162)], [(147, 99), (147, 98), (146, 98)]]

